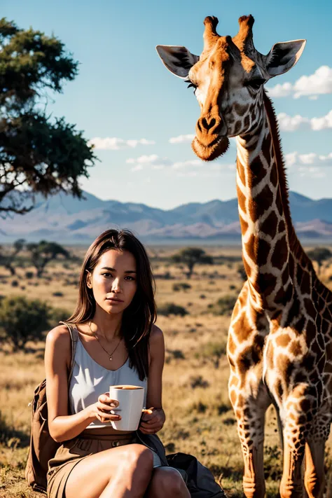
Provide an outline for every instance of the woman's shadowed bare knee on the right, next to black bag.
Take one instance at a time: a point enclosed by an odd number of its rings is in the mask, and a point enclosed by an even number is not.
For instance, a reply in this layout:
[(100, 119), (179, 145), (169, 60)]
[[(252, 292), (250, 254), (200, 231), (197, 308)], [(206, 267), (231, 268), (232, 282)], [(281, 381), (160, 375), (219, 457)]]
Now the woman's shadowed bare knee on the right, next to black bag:
[(181, 474), (172, 467), (157, 467), (153, 470), (145, 498), (191, 498)]

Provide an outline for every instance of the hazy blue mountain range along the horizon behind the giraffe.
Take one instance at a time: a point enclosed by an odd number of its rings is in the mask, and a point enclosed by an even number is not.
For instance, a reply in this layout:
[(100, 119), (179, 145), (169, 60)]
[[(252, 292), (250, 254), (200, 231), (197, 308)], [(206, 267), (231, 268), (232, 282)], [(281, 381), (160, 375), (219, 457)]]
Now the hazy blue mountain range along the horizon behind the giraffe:
[[(204, 240), (240, 241), (237, 199), (191, 202), (174, 209), (158, 209), (134, 202), (101, 200), (84, 192), (78, 200), (59, 193), (25, 215), (0, 219), (1, 242), (20, 237), (86, 244), (107, 228), (130, 228), (141, 240), (167, 243)], [(312, 200), (289, 193), (291, 215), (300, 239), (332, 240), (332, 199)]]

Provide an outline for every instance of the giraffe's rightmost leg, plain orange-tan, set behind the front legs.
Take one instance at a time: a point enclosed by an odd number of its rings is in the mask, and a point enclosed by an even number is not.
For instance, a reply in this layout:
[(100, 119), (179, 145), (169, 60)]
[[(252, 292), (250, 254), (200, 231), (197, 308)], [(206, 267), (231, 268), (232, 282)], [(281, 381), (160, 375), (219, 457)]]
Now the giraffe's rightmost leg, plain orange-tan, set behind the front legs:
[(324, 492), (325, 441), (308, 438), (305, 443), (305, 490), (309, 498), (321, 498)]

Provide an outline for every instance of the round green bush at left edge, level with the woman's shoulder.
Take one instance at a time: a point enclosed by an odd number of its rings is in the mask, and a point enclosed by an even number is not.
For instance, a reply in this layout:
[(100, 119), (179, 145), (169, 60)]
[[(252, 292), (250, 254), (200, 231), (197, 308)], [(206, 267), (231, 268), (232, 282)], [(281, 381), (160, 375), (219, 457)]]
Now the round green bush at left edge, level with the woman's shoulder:
[(13, 351), (24, 350), (28, 340), (41, 340), (50, 328), (50, 307), (39, 299), (23, 296), (4, 298), (0, 302), (0, 341), (9, 343)]

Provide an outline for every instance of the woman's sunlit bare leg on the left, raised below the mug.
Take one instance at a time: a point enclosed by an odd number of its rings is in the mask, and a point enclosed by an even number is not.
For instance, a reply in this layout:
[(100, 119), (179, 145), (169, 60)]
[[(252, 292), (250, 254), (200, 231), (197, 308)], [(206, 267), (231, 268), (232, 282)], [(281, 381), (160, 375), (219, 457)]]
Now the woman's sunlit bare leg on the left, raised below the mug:
[(151, 480), (153, 454), (128, 444), (100, 451), (79, 462), (69, 474), (66, 498), (142, 498)]

